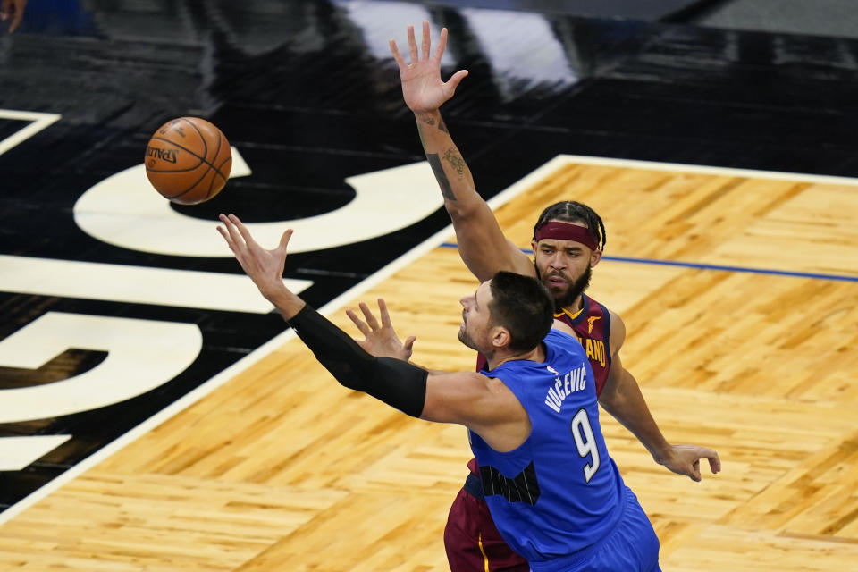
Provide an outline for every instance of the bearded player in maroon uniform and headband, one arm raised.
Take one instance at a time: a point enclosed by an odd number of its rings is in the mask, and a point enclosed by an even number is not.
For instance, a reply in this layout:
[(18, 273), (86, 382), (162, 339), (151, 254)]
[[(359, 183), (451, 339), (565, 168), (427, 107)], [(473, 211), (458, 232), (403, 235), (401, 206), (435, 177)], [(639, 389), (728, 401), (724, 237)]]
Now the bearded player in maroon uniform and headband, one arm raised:
[[(665, 440), (635, 377), (620, 360), (625, 324), (617, 314), (584, 293), (605, 244), (599, 215), (572, 201), (546, 208), (534, 227), (534, 261), (504, 237), (492, 209), (476, 192), (467, 164), (450, 139), (439, 111), (467, 76), (467, 71), (460, 70), (447, 82), (441, 79), (446, 42), (447, 30), (442, 29), (438, 47), (431, 54), (429, 22), (425, 21), (419, 48), (414, 28), (408, 27), (410, 64), (405, 63), (393, 40), (391, 52), (400, 68), (403, 97), (415, 114), (426, 159), (441, 187), (459, 254), (467, 268), (480, 282), (500, 270), (539, 277), (554, 296), (557, 317), (572, 326), (586, 349), (601, 407), (635, 434), (655, 462), (670, 471), (699, 481), (700, 459), (708, 458), (711, 471), (719, 472), (720, 461), (714, 450), (672, 445)], [(444, 531), (450, 569), (526, 572), (526, 560), (509, 549), (492, 523), (474, 459), (468, 467), (471, 473), (453, 502)]]

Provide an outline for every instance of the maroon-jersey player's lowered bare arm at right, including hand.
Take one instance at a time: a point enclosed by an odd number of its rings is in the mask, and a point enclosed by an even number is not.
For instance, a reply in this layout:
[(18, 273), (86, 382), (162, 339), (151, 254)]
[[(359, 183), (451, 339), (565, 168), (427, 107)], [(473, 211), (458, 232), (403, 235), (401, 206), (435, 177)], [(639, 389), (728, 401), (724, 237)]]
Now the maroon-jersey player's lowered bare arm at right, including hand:
[(718, 473), (721, 461), (717, 452), (699, 445), (671, 445), (661, 434), (635, 376), (623, 367), (619, 357), (619, 349), (626, 338), (626, 325), (613, 312), (610, 324), (610, 374), (599, 396), (601, 407), (643, 443), (656, 463), (678, 475), (700, 481), (700, 459), (707, 458), (711, 472)]

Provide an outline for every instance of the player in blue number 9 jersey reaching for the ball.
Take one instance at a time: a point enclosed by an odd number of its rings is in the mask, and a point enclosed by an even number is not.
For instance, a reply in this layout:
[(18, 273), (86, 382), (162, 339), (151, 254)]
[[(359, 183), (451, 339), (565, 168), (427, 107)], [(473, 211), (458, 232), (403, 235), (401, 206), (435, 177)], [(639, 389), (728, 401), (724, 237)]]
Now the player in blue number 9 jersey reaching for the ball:
[(467, 426), (494, 522), (530, 569), (660, 570), (655, 531), (605, 448), (593, 368), (553, 319), (542, 282), (501, 271), (461, 299), (458, 338), (486, 357), (486, 371), (429, 372), (366, 353), (288, 290), (291, 231), (265, 250), (234, 215), (221, 222), (241, 267), (338, 382), (408, 415)]

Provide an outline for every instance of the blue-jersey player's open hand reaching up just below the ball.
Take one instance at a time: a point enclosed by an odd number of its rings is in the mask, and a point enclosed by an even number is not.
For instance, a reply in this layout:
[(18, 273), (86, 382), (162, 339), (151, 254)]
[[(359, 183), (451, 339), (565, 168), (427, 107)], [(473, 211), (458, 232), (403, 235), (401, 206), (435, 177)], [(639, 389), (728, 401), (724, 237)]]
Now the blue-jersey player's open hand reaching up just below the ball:
[(257, 285), (262, 295), (271, 299), (285, 290), (283, 268), (286, 265), (286, 247), (289, 245), (292, 230), (283, 232), (277, 248), (265, 250), (253, 239), (248, 227), (241, 223), (238, 216), (221, 214), (218, 218), (226, 229), (218, 226), (217, 231), (221, 233), (223, 240), (226, 240), (241, 268)]

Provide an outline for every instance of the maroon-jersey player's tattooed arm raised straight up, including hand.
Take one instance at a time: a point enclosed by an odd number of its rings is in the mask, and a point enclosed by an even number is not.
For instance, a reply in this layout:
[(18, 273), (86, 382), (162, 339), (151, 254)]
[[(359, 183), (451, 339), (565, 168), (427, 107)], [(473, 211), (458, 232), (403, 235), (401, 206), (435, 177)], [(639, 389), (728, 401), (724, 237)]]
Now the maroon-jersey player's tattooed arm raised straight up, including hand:
[(432, 167), (444, 197), (444, 207), (456, 231), (459, 255), (480, 282), (490, 279), (499, 270), (534, 275), (530, 259), (503, 236), (492, 209), (476, 192), (474, 178), (442, 119), (441, 106), (453, 97), (459, 82), (467, 76), (466, 70), (459, 70), (450, 80), (442, 81), (441, 58), (446, 46), (446, 28), (441, 30), (438, 46), (431, 54), (429, 22), (423, 22), (423, 42), (419, 49), (414, 27), (408, 26), (411, 58), (408, 64), (391, 39), (391, 53), (400, 67), (402, 96), (414, 113), (426, 161)]

